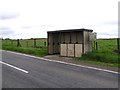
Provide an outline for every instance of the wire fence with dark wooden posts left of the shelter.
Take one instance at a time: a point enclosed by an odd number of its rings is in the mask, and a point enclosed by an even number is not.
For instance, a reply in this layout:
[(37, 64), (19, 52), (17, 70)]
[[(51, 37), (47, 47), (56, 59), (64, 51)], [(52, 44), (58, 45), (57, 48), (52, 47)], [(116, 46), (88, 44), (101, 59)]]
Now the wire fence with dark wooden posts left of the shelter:
[(2, 40), (2, 45), (10, 45), (17, 47), (47, 47), (47, 39), (17, 39), (17, 40)]

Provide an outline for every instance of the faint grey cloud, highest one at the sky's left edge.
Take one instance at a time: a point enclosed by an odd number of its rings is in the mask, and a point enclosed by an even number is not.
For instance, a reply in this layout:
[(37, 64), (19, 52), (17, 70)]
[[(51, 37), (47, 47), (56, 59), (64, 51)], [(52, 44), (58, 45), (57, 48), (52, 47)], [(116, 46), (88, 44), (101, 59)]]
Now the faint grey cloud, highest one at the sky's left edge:
[(18, 13), (3, 13), (3, 12), (0, 12), (0, 20), (6, 20), (6, 19), (14, 19), (14, 18), (17, 18), (19, 17), (19, 14)]

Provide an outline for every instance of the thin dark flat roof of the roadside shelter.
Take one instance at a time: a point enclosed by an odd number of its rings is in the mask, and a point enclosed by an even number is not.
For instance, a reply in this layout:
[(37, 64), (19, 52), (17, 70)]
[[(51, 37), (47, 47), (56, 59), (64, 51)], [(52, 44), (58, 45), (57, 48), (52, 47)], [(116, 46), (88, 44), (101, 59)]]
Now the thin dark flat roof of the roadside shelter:
[(93, 30), (91, 29), (66, 29), (66, 30), (55, 30), (55, 31), (47, 31), (48, 33), (57, 33), (57, 32), (79, 32), (79, 31), (88, 31), (88, 32), (92, 32)]

